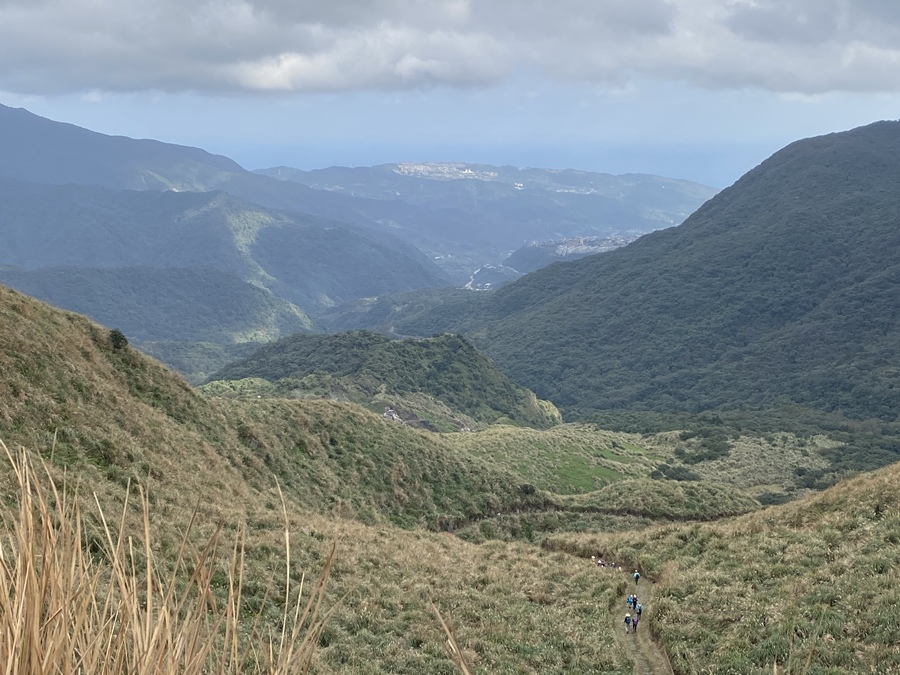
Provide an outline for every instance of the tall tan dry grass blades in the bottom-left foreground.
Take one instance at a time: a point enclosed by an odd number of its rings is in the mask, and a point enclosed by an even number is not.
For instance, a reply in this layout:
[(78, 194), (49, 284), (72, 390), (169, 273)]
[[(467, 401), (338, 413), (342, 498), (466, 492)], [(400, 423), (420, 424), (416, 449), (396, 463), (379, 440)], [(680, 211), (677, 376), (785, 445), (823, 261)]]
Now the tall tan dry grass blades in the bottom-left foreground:
[(115, 526), (100, 511), (104, 546), (90, 552), (77, 495), (44, 480), (49, 474), (39, 475), (24, 452), (14, 457), (2, 447), (19, 488), (16, 517), (5, 520), (0, 541), (4, 674), (308, 672), (330, 615), (322, 602), (334, 548), (305, 602), (303, 584), (293, 587), (288, 575), (281, 630), (267, 634), (259, 617), (241, 615), (243, 536), (230, 551), (224, 598), (215, 582), (221, 529), (194, 551), (192, 522), (173, 569), (163, 572), (143, 494), (141, 536), (126, 532), (127, 505)]

